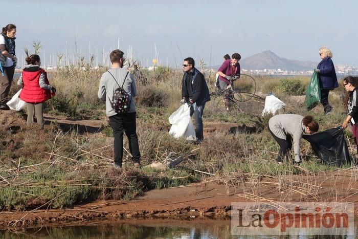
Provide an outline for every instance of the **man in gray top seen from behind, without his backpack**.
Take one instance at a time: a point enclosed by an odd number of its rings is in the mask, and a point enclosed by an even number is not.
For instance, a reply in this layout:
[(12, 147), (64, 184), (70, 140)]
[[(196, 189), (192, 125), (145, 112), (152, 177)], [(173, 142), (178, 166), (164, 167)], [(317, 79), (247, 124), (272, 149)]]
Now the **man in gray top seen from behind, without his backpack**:
[[(109, 124), (113, 129), (115, 138), (114, 168), (122, 167), (123, 157), (123, 132), (128, 137), (129, 151), (135, 167), (140, 167), (141, 154), (139, 152), (138, 136), (136, 129), (136, 105), (133, 97), (136, 96), (136, 82), (132, 74), (124, 70), (123, 52), (114, 50), (109, 55), (112, 63), (111, 69), (103, 73), (98, 90), (98, 98), (106, 101), (106, 115), (109, 117)], [(123, 86), (122, 86), (123, 85)], [(127, 113), (117, 114), (111, 106), (111, 99), (116, 89), (122, 86), (130, 97), (130, 107)]]

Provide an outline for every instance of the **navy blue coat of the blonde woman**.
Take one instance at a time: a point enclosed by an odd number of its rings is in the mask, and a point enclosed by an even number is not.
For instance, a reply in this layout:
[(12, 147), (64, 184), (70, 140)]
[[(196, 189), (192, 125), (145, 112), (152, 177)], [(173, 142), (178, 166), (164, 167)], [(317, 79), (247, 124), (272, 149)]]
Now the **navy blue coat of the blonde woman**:
[(335, 75), (333, 61), (330, 57), (325, 57), (318, 63), (317, 69), (320, 69), (318, 77), (320, 79), (321, 89), (330, 89), (338, 87), (337, 75)]

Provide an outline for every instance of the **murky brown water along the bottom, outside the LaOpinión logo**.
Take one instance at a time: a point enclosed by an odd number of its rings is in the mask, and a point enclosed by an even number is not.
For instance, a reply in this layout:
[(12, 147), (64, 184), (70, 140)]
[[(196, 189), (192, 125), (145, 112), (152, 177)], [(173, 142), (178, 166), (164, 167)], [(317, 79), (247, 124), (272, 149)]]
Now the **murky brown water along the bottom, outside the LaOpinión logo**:
[(225, 220), (140, 220), (102, 221), (81, 226), (42, 227), (25, 231), (0, 231), (0, 238), (354, 238), (354, 236), (237, 236), (231, 235), (231, 221)]

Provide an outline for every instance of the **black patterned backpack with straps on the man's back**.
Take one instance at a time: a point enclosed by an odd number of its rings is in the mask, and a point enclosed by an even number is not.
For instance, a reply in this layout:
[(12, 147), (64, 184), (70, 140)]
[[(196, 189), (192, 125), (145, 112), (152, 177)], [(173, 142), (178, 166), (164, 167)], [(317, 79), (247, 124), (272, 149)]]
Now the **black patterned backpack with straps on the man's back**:
[[(115, 79), (116, 83), (118, 84), (116, 78), (109, 71), (107, 71), (107, 72), (113, 77), (113, 79)], [(129, 111), (129, 108), (130, 108), (131, 97), (123, 89), (123, 85), (124, 85), (124, 82), (125, 82), (125, 80), (126, 80), (126, 78), (128, 76), (128, 73), (129, 72), (127, 72), (127, 74), (124, 77), (122, 87), (118, 84), (119, 87), (113, 93), (112, 100), (110, 100), (110, 105), (112, 106), (113, 110), (117, 114), (127, 113)]]

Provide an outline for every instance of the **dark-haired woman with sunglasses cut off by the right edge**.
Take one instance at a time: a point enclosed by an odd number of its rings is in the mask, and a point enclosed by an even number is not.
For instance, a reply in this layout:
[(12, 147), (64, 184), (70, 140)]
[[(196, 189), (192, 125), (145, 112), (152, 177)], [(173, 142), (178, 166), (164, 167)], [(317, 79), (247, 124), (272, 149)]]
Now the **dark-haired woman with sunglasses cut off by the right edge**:
[(342, 124), (343, 128), (347, 128), (349, 122), (352, 125), (352, 135), (354, 139), (354, 143), (357, 145), (357, 153), (358, 153), (358, 127), (356, 123), (358, 122), (358, 77), (347, 76), (343, 79), (344, 89), (348, 92), (346, 97), (346, 103), (348, 108), (348, 115), (345, 121)]

